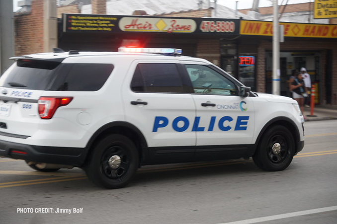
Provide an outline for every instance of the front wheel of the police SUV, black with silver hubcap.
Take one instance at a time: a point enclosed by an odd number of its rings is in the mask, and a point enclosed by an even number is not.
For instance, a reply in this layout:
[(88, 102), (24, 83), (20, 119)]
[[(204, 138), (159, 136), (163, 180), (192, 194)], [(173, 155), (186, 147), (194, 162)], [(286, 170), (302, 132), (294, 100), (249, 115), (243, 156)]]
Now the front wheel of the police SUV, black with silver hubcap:
[(258, 144), (253, 161), (261, 169), (281, 171), (287, 168), (295, 154), (295, 141), (288, 128), (275, 125), (267, 129)]

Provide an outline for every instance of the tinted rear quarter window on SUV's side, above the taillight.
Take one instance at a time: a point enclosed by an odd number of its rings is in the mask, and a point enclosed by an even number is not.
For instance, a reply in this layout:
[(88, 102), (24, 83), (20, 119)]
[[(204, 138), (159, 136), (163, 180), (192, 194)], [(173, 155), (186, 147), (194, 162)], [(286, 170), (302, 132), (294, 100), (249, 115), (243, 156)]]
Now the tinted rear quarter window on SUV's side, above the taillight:
[(112, 64), (62, 64), (50, 90), (97, 91), (110, 76)]

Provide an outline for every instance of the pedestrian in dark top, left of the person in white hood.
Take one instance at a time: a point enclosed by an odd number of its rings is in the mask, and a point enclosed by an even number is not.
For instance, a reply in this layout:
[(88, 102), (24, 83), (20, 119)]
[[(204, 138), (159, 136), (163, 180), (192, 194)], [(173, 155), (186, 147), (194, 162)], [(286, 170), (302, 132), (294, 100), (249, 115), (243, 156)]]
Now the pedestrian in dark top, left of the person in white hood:
[(302, 114), (303, 112), (303, 106), (304, 106), (304, 98), (307, 95), (307, 88), (304, 85), (302, 74), (297, 72), (295, 74), (295, 79), (291, 83), (290, 91), (293, 93), (293, 99), (297, 101), (298, 105), (301, 108)]

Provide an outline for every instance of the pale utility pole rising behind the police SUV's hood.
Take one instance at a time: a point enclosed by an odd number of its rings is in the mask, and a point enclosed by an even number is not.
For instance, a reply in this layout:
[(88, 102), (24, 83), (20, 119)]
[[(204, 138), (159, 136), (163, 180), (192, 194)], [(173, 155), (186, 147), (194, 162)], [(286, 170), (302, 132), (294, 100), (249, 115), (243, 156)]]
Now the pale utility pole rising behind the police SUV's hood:
[(280, 30), (278, 25), (278, 4), (273, 0), (273, 75), (272, 75), (272, 94), (280, 95)]

